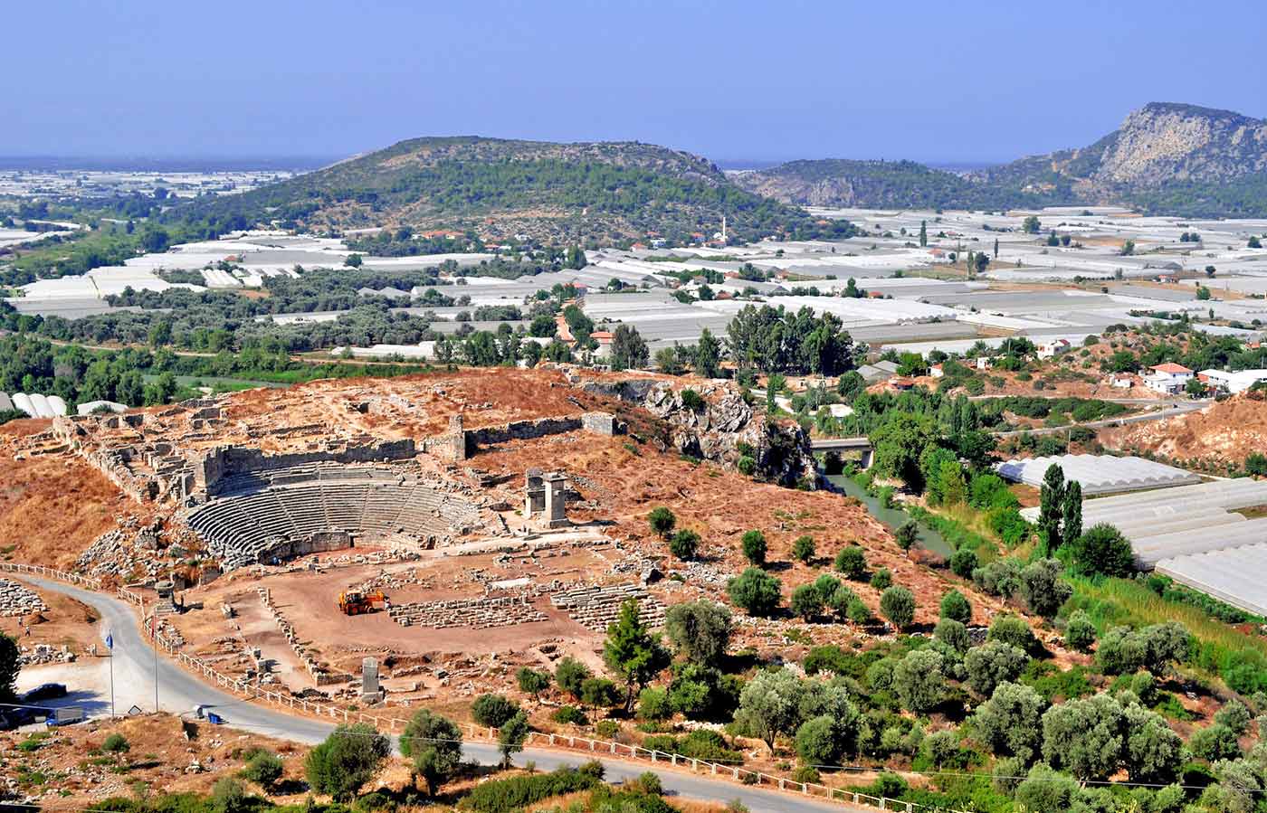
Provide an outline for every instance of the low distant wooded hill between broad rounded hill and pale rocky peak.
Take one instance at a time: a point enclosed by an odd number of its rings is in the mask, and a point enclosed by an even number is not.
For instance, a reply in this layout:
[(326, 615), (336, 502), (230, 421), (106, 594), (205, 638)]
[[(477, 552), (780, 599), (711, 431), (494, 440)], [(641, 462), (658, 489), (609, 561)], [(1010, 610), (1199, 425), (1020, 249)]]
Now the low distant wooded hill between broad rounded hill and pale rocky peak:
[(1059, 194), (974, 182), (915, 161), (789, 161), (731, 177), (749, 191), (802, 206), (1010, 209), (1062, 200)]

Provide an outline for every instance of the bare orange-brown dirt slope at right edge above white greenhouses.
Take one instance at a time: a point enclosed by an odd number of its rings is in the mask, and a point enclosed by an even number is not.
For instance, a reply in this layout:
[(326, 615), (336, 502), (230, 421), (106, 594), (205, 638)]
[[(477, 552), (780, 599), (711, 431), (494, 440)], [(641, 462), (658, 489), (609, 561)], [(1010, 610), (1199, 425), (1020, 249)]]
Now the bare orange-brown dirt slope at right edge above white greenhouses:
[(1111, 448), (1144, 448), (1164, 457), (1244, 463), (1267, 451), (1267, 400), (1244, 393), (1200, 412), (1107, 429), (1101, 442)]

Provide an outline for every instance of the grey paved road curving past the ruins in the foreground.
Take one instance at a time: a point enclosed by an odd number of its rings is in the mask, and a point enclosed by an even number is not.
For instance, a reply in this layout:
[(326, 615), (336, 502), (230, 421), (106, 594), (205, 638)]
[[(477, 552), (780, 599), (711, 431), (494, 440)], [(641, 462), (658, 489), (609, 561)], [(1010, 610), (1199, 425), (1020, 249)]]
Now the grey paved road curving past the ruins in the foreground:
[[(137, 626), (137, 617), (128, 604), (115, 598), (91, 590), (72, 588), (58, 581), (24, 575), (15, 575), (15, 577), (27, 580), (42, 590), (68, 595), (100, 613), (101, 636), (104, 637), (106, 631), (114, 634), (114, 679), (120, 685), (123, 681), (128, 681), (133, 686), (148, 686), (151, 700), (148, 707), (143, 708), (146, 712), (153, 709), (152, 696), (155, 676), (157, 675), (158, 707), (165, 712), (184, 714), (193, 712), (194, 707), (201, 704), (222, 714), (231, 727), (238, 726), (279, 740), (290, 740), (307, 745), (321, 742), (334, 728), (333, 723), (285, 714), (277, 709), (256, 705), (242, 698), (214, 689), (167, 659), (158, 659), (156, 670), (155, 651), (142, 637)], [(499, 760), (497, 747), (487, 743), (464, 743), (462, 752), (466, 760), (474, 762), (493, 765)], [(554, 770), (563, 765), (579, 765), (587, 759), (588, 756), (575, 753), (545, 748), (526, 748), (523, 753), (518, 755), (516, 761), (523, 762), (531, 760), (541, 770)], [(608, 781), (631, 779), (651, 769), (651, 765), (646, 762), (613, 759), (602, 759), (601, 761), (607, 769)], [(739, 783), (711, 779), (708, 776), (696, 776), (672, 770), (658, 770), (656, 772), (660, 775), (665, 790), (670, 794), (715, 802), (739, 799), (749, 809), (759, 813), (818, 813), (820, 810), (870, 813), (874, 810), (874, 808), (855, 808), (821, 799), (802, 799), (787, 793), (749, 788)]]

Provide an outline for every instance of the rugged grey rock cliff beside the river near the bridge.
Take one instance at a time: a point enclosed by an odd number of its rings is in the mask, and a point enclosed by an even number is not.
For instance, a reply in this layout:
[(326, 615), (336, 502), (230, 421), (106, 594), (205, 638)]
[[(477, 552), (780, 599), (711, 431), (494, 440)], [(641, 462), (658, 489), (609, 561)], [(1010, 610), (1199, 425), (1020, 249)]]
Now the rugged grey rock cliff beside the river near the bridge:
[[(794, 423), (767, 420), (753, 412), (739, 390), (730, 384), (678, 386), (675, 382), (635, 379), (626, 381), (585, 381), (587, 393), (636, 403), (659, 418), (665, 428), (666, 447), (683, 455), (721, 463), (727, 469), (746, 469), (740, 461), (751, 458), (753, 474), (789, 488), (815, 488), (817, 484), (810, 437)], [(693, 393), (694, 396), (687, 395)]]

